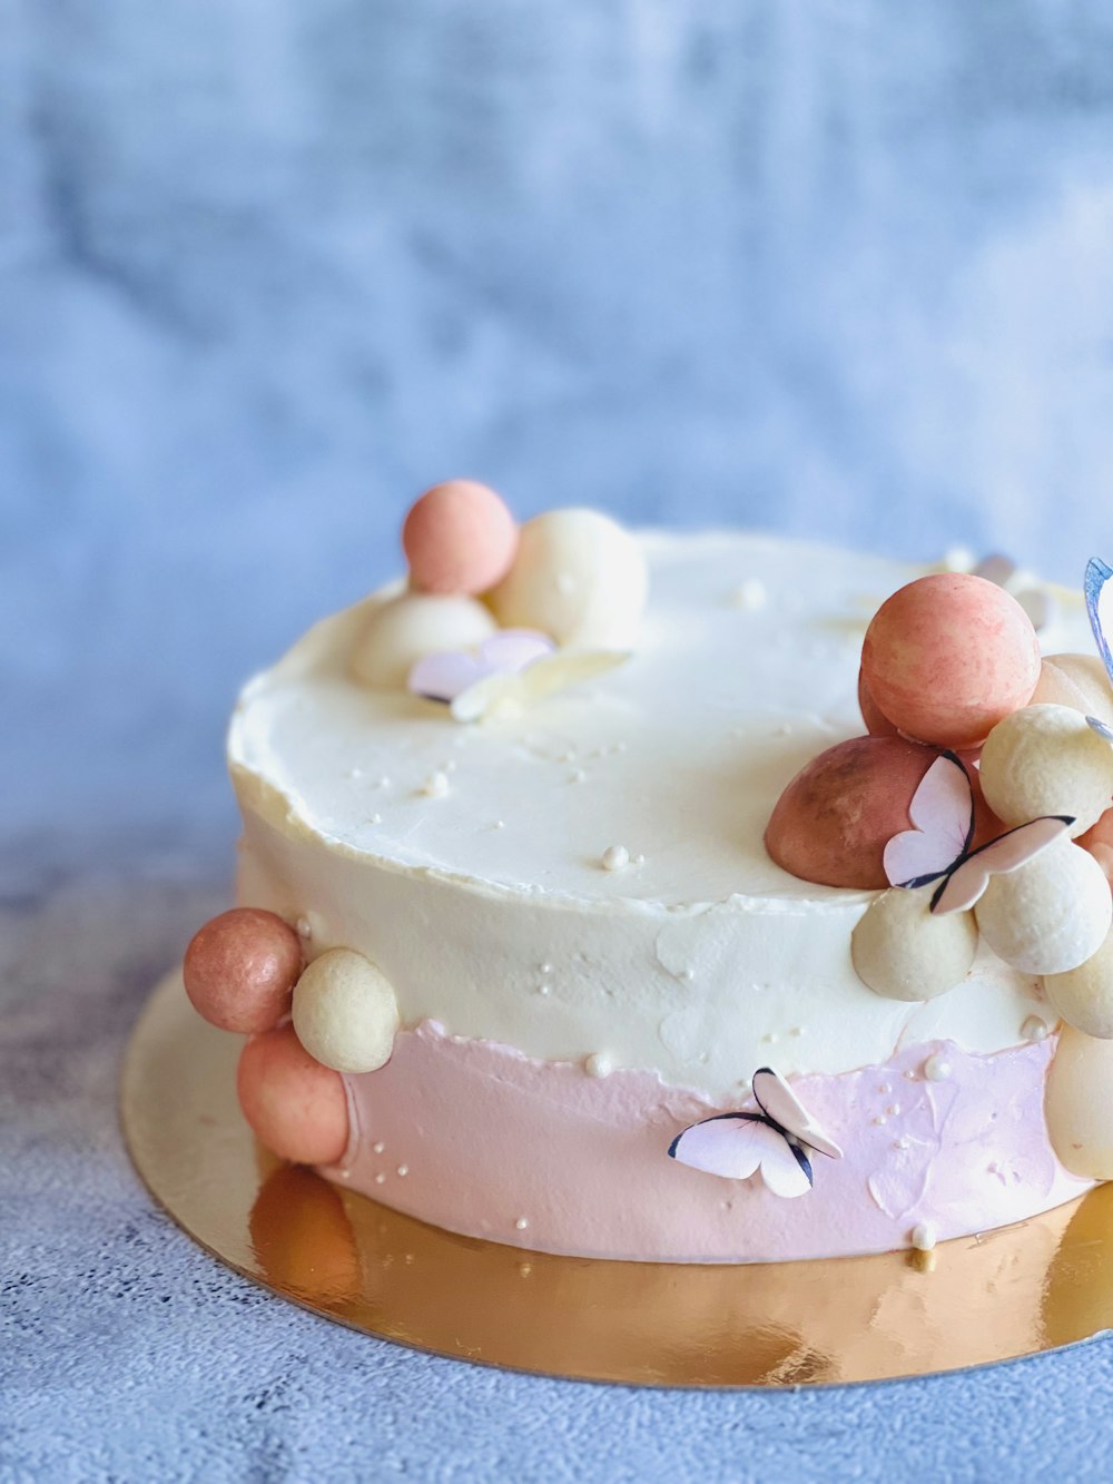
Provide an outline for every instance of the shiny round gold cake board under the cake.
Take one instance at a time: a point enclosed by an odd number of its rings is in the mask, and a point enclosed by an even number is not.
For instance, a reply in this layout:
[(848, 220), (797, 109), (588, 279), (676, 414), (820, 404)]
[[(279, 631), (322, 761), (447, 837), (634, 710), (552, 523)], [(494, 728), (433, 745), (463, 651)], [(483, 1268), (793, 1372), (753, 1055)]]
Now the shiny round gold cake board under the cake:
[(242, 1042), (178, 975), (123, 1068), (156, 1201), (283, 1298), (418, 1350), (640, 1386), (890, 1380), (1054, 1350), (1113, 1328), (1113, 1184), (933, 1252), (755, 1266), (611, 1263), (454, 1236), (283, 1165), (236, 1104)]

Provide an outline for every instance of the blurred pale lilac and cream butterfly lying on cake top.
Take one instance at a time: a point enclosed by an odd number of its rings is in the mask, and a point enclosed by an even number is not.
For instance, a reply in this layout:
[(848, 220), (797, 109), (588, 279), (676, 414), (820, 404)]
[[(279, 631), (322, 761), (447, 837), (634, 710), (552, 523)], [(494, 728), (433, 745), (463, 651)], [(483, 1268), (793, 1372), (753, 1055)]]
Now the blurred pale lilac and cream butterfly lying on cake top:
[(629, 659), (625, 650), (558, 650), (548, 634), (500, 629), (475, 650), (423, 654), (408, 689), (441, 700), (457, 721), (510, 714)]

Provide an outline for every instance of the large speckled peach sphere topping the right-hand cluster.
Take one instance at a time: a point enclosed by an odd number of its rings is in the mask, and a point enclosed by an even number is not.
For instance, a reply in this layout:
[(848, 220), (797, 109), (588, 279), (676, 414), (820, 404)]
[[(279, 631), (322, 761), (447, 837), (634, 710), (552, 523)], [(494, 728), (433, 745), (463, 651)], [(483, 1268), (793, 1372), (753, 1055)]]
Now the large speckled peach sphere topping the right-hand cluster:
[(1031, 619), (984, 577), (917, 577), (874, 614), (862, 674), (879, 709), (905, 736), (974, 746), (1027, 705), (1040, 675)]

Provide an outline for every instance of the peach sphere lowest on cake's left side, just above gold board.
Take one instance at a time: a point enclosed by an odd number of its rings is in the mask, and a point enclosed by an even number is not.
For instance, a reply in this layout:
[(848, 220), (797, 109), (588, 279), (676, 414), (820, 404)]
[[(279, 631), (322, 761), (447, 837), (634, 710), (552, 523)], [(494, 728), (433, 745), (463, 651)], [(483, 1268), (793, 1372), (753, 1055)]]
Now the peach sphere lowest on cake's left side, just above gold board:
[(332, 1165), (347, 1147), (347, 1097), (338, 1071), (322, 1067), (292, 1025), (255, 1036), (236, 1071), (243, 1117), (295, 1165)]

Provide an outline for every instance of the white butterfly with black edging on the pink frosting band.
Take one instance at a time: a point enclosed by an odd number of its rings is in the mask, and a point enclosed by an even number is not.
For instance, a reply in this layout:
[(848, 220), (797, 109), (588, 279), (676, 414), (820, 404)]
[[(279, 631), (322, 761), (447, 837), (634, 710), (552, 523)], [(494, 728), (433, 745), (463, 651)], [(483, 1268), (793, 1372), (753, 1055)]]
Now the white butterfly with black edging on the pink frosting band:
[(724, 1180), (761, 1178), (775, 1196), (803, 1196), (815, 1184), (809, 1150), (841, 1159), (843, 1152), (812, 1119), (800, 1098), (772, 1067), (754, 1073), (760, 1113), (717, 1113), (692, 1123), (669, 1144), (681, 1165)]

